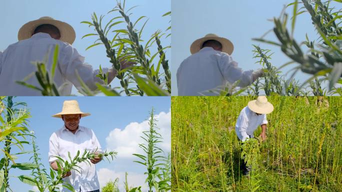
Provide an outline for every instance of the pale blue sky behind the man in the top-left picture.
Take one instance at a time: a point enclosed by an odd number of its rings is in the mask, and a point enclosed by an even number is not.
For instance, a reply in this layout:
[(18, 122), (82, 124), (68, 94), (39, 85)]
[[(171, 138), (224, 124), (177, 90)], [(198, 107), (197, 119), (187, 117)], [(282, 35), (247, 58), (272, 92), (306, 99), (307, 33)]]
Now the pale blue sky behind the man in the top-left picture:
[[(90, 36), (81, 39), (83, 35), (93, 33), (93, 30), (87, 24), (81, 24), (80, 22), (84, 20), (90, 21), (93, 12), (97, 15), (106, 14), (115, 5), (116, 0), (4, 0), (0, 6), (0, 17), (3, 26), (1, 28), (5, 28), (5, 30), (1, 30), (0, 51), (4, 50), (9, 44), (17, 41), (17, 32), (24, 23), (42, 16), (51, 16), (54, 19), (67, 22), (74, 27), (76, 39), (72, 45), (81, 55), (85, 56), (85, 62), (91, 64), (94, 69), (98, 68), (100, 64), (102, 67), (109, 67), (111, 64), (106, 57), (103, 45), (98, 45), (85, 51), (86, 47), (91, 45), (97, 38)], [(149, 39), (156, 30), (160, 29), (164, 31), (169, 26), (170, 16), (161, 16), (167, 11), (170, 11), (169, 0), (126, 0), (126, 9), (135, 5), (138, 6), (132, 9), (131, 12), (133, 14), (130, 15), (130, 19), (135, 21), (142, 15), (149, 19), (144, 27), (142, 39)], [(106, 23), (118, 15), (118, 12), (109, 13), (104, 17), (103, 22)], [(144, 20), (140, 20), (140, 24), (137, 26), (140, 28), (143, 22)], [(112, 29), (126, 28), (123, 23), (121, 24), (117, 25), (118, 28)], [(108, 37), (112, 38), (113, 35), (108, 35)], [(162, 38), (161, 44), (163, 46), (169, 45), (170, 37), (166, 39)], [(156, 52), (155, 47), (151, 51)], [(166, 53), (166, 58), (169, 59), (169, 57), (170, 49), (168, 50), (168, 54)], [(120, 85), (114, 79), (112, 86)], [(73, 89), (72, 94), (76, 93), (76, 89)]]

